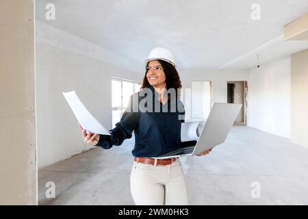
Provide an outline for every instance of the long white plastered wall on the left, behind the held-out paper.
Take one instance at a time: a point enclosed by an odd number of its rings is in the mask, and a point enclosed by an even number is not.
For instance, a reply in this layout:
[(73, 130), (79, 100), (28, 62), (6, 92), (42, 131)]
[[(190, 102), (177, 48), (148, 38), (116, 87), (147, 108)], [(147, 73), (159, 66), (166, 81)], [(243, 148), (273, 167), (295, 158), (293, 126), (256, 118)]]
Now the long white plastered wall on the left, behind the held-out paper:
[[(63, 31), (60, 32), (63, 34)], [(40, 42), (36, 42), (36, 128), (39, 168), (91, 148), (82, 140), (77, 120), (62, 92), (76, 90), (88, 110), (107, 129), (111, 129), (112, 77), (142, 81), (144, 74), (142, 71), (136, 73), (133, 70), (118, 68), (89, 57), (88, 54), (81, 55), (82, 50), (76, 53), (55, 47), (57, 44), (50, 45), (42, 41), (40, 38)], [(84, 40), (74, 38), (74, 42), (82, 44)]]

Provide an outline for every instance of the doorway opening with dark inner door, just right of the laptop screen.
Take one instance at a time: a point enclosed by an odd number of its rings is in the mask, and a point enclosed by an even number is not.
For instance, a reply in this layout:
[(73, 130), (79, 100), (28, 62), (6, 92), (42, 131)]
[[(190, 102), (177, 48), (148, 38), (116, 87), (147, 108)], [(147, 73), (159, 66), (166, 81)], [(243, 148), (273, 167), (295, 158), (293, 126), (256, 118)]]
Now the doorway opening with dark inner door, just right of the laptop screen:
[(235, 125), (246, 126), (246, 110), (247, 110), (247, 81), (228, 81), (227, 82), (227, 103), (242, 104), (242, 108), (235, 119)]

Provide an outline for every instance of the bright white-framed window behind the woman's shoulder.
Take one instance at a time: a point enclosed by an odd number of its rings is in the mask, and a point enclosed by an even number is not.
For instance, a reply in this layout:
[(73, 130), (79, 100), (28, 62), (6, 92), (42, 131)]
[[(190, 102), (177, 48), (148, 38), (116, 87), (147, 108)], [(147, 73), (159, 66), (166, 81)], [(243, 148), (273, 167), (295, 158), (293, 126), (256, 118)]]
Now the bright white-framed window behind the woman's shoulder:
[(112, 79), (112, 128), (116, 127), (125, 111), (131, 94), (138, 92), (141, 83)]

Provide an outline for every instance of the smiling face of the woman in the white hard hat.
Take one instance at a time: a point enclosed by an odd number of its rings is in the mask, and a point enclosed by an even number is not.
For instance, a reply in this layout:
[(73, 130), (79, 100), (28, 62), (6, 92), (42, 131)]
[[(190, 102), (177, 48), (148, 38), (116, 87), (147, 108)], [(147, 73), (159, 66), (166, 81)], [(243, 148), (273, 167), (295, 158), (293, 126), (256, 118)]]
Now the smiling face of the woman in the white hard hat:
[(150, 61), (146, 66), (146, 78), (154, 88), (166, 88), (164, 68), (157, 60)]

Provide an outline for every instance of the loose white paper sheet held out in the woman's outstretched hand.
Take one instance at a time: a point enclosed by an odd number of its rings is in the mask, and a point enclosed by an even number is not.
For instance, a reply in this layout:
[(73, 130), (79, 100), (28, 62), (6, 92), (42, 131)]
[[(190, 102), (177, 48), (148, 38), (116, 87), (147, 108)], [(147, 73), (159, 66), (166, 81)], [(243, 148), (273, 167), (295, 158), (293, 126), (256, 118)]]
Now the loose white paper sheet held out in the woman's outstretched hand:
[(86, 129), (87, 133), (99, 133), (102, 135), (110, 136), (110, 133), (107, 131), (107, 129), (103, 125), (101, 125), (101, 123), (99, 123), (99, 121), (94, 118), (94, 116), (90, 114), (90, 112), (84, 106), (84, 103), (80, 101), (75, 90), (62, 93), (68, 105), (70, 105), (70, 109), (73, 110), (73, 113), (75, 114), (78, 122), (84, 129)]

